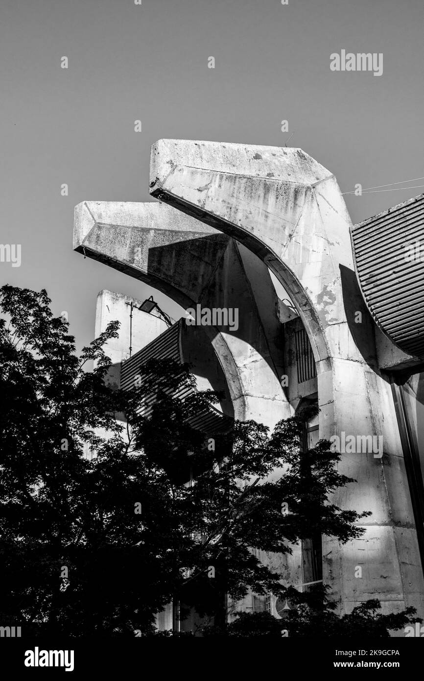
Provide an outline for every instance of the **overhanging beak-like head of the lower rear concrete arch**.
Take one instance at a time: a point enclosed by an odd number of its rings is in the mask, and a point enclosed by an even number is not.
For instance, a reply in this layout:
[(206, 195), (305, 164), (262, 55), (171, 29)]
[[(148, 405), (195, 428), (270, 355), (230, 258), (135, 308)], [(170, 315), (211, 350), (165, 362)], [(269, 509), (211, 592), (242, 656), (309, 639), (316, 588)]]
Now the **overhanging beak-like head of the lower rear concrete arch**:
[[(84, 201), (75, 208), (74, 250), (155, 286), (186, 308), (208, 285), (227, 236), (169, 206)], [(203, 262), (194, 269), (187, 265)]]

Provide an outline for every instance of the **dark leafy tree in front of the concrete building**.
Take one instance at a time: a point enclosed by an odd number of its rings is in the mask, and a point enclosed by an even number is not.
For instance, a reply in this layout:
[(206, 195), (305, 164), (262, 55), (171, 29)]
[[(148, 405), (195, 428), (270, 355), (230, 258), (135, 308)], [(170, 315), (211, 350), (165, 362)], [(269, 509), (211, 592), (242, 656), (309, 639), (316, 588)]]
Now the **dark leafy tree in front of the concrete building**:
[[(297, 419), (272, 434), (233, 422), (211, 439), (191, 419), (218, 396), (178, 398), (195, 386), (188, 367), (150, 362), (140, 385), (113, 391), (103, 345), (118, 323), (78, 357), (45, 290), (6, 285), (0, 295), (3, 624), (148, 635), (174, 599), (224, 631), (225, 594), (286, 592), (252, 550), (289, 553), (312, 531), (343, 543), (361, 536), (355, 523), (369, 513), (329, 501), (353, 481), (336, 471), (329, 443), (299, 454)], [(152, 405), (144, 415), (141, 402)]]

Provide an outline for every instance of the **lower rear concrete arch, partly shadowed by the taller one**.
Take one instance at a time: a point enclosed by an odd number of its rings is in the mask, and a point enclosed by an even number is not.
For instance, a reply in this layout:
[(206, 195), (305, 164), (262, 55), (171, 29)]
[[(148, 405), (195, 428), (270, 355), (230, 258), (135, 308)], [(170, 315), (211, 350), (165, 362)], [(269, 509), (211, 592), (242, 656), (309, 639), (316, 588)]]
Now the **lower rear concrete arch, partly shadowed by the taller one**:
[(250, 251), (165, 204), (118, 202), (76, 206), (74, 249), (185, 308), (238, 308), (237, 330), (202, 327), (223, 366), (234, 415), (271, 428), (289, 416), (278, 298), (267, 267)]

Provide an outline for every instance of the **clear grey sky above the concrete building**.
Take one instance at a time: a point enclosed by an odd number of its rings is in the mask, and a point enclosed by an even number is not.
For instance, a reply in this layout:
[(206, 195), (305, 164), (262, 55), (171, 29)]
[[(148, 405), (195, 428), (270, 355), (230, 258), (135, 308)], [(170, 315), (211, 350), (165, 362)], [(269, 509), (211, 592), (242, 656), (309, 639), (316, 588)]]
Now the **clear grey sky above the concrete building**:
[[(150, 200), (159, 138), (282, 146), (295, 131), (342, 191), (424, 176), (423, 29), (423, 0), (1, 0), (0, 243), (22, 244), (22, 264), (0, 263), (0, 283), (48, 289), (78, 347), (103, 288), (171, 311), (71, 247), (82, 200)], [(342, 49), (382, 52), (382, 76), (331, 72)], [(423, 191), (346, 204), (355, 223)]]

